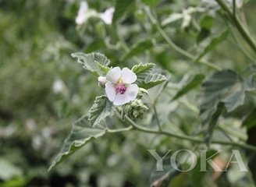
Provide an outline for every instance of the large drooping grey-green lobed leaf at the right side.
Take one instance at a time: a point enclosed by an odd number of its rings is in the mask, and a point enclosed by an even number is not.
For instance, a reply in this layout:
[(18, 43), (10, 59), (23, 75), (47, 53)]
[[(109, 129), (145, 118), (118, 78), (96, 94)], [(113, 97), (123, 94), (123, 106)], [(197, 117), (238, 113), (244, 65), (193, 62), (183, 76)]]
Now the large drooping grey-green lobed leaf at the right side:
[(219, 103), (224, 103), (228, 112), (233, 111), (244, 104), (245, 92), (255, 87), (252, 76), (244, 79), (232, 70), (223, 70), (210, 76), (203, 83), (203, 88), (200, 117), (204, 130), (208, 132), (206, 140), (209, 142), (222, 111)]

